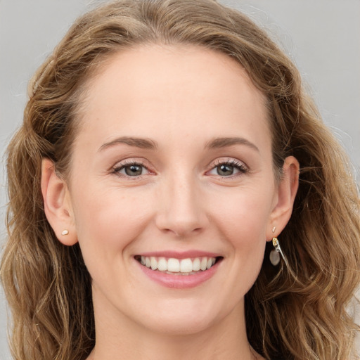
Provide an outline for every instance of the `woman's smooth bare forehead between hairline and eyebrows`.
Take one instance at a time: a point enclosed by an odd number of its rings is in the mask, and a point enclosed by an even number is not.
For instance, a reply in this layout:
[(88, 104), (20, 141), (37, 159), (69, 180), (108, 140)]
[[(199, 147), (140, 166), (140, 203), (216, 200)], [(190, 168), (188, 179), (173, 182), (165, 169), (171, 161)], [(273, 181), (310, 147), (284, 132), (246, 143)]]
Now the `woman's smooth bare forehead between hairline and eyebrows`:
[(118, 131), (149, 136), (163, 127), (174, 135), (184, 135), (184, 129), (206, 135), (224, 132), (224, 126), (236, 130), (243, 123), (239, 131), (264, 128), (269, 137), (265, 96), (236, 60), (200, 46), (143, 45), (119, 51), (85, 89), (82, 131), (92, 129), (99, 136)]

